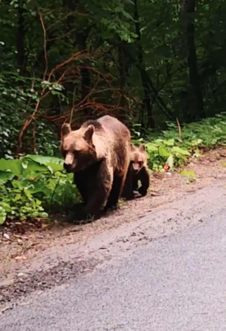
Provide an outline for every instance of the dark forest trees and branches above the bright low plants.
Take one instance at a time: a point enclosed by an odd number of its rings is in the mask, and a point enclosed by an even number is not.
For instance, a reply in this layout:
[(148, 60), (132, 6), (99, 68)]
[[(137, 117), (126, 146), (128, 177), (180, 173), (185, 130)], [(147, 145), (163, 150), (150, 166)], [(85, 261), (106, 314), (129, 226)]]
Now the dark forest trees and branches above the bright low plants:
[(1, 0), (0, 156), (55, 155), (59, 128), (140, 130), (224, 111), (224, 0)]

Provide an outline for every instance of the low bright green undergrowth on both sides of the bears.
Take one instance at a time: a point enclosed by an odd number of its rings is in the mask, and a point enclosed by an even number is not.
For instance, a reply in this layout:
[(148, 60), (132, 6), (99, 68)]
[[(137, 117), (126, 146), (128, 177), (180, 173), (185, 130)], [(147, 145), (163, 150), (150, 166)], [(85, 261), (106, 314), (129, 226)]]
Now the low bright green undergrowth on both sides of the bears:
[[(178, 127), (167, 123), (168, 130), (148, 132), (140, 137), (136, 126), (132, 140), (135, 145), (145, 143), (148, 164), (153, 171), (171, 170), (191, 157), (200, 155), (201, 147), (226, 145), (226, 116), (218, 115), (198, 123)], [(0, 224), (6, 219), (20, 223), (32, 218), (47, 218), (48, 213), (79, 202), (80, 195), (72, 174), (63, 170), (63, 160), (56, 157), (26, 155), (19, 160), (0, 159)]]

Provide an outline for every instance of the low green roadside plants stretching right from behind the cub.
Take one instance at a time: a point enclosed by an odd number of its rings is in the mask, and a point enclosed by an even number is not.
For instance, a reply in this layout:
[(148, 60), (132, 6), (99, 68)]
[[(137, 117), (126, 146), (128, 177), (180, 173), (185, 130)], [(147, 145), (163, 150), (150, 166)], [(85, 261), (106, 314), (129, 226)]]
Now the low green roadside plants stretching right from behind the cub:
[[(152, 132), (145, 139), (139, 138), (140, 132), (134, 130), (133, 142), (135, 145), (143, 141), (146, 143), (148, 164), (154, 171), (164, 171), (163, 167), (166, 164), (172, 169), (180, 166), (190, 157), (200, 156), (199, 148), (201, 147), (226, 145), (225, 114), (184, 124), (181, 139), (178, 135), (178, 127), (174, 123), (168, 122), (168, 127), (169, 129), (162, 131), (160, 135)], [(138, 136), (137, 139), (135, 139), (136, 136)]]

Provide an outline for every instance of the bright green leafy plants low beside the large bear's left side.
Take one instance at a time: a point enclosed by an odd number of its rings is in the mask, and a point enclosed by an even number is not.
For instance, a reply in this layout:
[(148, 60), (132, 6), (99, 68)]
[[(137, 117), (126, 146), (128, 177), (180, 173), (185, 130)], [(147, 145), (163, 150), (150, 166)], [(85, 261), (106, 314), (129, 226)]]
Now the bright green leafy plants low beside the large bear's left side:
[(39, 155), (1, 159), (0, 224), (6, 218), (46, 218), (53, 208), (67, 208), (71, 201), (80, 201), (62, 163), (62, 159)]

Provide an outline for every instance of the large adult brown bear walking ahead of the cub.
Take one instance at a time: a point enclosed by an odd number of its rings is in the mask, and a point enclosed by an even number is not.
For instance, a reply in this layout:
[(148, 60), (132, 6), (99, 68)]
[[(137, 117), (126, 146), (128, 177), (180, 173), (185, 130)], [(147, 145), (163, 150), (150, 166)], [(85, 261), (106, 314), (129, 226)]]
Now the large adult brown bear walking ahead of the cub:
[(121, 195), (130, 163), (130, 132), (108, 115), (88, 120), (75, 131), (65, 123), (61, 132), (64, 168), (74, 173), (85, 216), (98, 217)]

